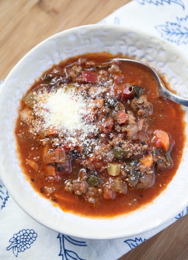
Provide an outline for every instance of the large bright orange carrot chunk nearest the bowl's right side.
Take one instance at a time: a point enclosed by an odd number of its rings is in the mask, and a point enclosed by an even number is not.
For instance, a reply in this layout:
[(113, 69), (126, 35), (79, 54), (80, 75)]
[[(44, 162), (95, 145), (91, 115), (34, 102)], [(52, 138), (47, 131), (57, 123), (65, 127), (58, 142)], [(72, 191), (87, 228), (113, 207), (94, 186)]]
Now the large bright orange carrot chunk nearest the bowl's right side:
[(154, 131), (154, 139), (152, 143), (156, 148), (162, 148), (165, 152), (167, 152), (170, 148), (169, 135), (167, 132), (157, 129)]

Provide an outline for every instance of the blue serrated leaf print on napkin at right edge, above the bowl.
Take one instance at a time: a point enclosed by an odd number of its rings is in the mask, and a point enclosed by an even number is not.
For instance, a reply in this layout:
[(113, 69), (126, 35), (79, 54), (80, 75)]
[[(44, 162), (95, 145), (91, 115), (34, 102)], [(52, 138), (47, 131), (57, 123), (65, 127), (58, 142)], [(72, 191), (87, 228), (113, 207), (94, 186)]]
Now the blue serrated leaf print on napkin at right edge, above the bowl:
[(177, 22), (166, 22), (166, 24), (157, 25), (155, 28), (161, 37), (172, 43), (177, 45), (188, 43), (188, 16), (185, 18), (177, 17)]

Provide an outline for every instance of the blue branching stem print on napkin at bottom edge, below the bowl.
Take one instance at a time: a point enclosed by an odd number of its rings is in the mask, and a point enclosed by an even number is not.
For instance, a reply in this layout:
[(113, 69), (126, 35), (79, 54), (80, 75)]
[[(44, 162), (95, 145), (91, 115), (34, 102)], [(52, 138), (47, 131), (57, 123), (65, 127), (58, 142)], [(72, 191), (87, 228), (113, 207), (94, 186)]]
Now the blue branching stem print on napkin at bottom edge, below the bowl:
[[(79, 241), (79, 240), (75, 240), (69, 236), (63, 235), (63, 234), (58, 234), (57, 238), (59, 238), (59, 242), (60, 242), (60, 253), (59, 256), (62, 256), (62, 260), (84, 260), (82, 258), (80, 258), (78, 256), (78, 254), (76, 254), (76, 252), (66, 249), (65, 246), (65, 242), (67, 241), (70, 244), (73, 244), (75, 246), (79, 246), (79, 247), (87, 247), (87, 244), (85, 241)], [(65, 259), (64, 259), (65, 257)]]

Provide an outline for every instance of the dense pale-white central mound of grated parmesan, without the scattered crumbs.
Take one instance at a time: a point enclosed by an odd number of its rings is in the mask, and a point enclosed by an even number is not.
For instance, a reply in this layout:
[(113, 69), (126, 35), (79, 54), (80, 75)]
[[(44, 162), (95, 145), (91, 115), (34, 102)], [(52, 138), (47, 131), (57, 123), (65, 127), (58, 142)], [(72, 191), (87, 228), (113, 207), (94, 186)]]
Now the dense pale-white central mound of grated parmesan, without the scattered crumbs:
[(85, 128), (82, 117), (92, 111), (87, 108), (81, 95), (75, 95), (74, 91), (65, 92), (62, 88), (43, 95), (46, 101), (41, 103), (40, 116), (43, 118), (45, 129), (55, 126), (58, 131), (66, 129), (73, 133)]

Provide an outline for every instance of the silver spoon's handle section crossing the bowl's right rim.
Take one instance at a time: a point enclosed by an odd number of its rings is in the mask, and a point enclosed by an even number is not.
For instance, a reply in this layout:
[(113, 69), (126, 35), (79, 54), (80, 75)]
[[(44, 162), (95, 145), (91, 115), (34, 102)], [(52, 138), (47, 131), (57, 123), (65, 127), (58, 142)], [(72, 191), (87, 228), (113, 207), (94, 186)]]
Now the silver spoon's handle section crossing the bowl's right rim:
[(184, 107), (188, 107), (188, 99), (179, 97), (176, 94), (167, 90), (162, 84), (160, 84), (160, 85), (161, 85), (160, 89), (159, 89), (160, 97), (165, 97), (173, 102), (176, 102), (177, 104), (180, 104)]

